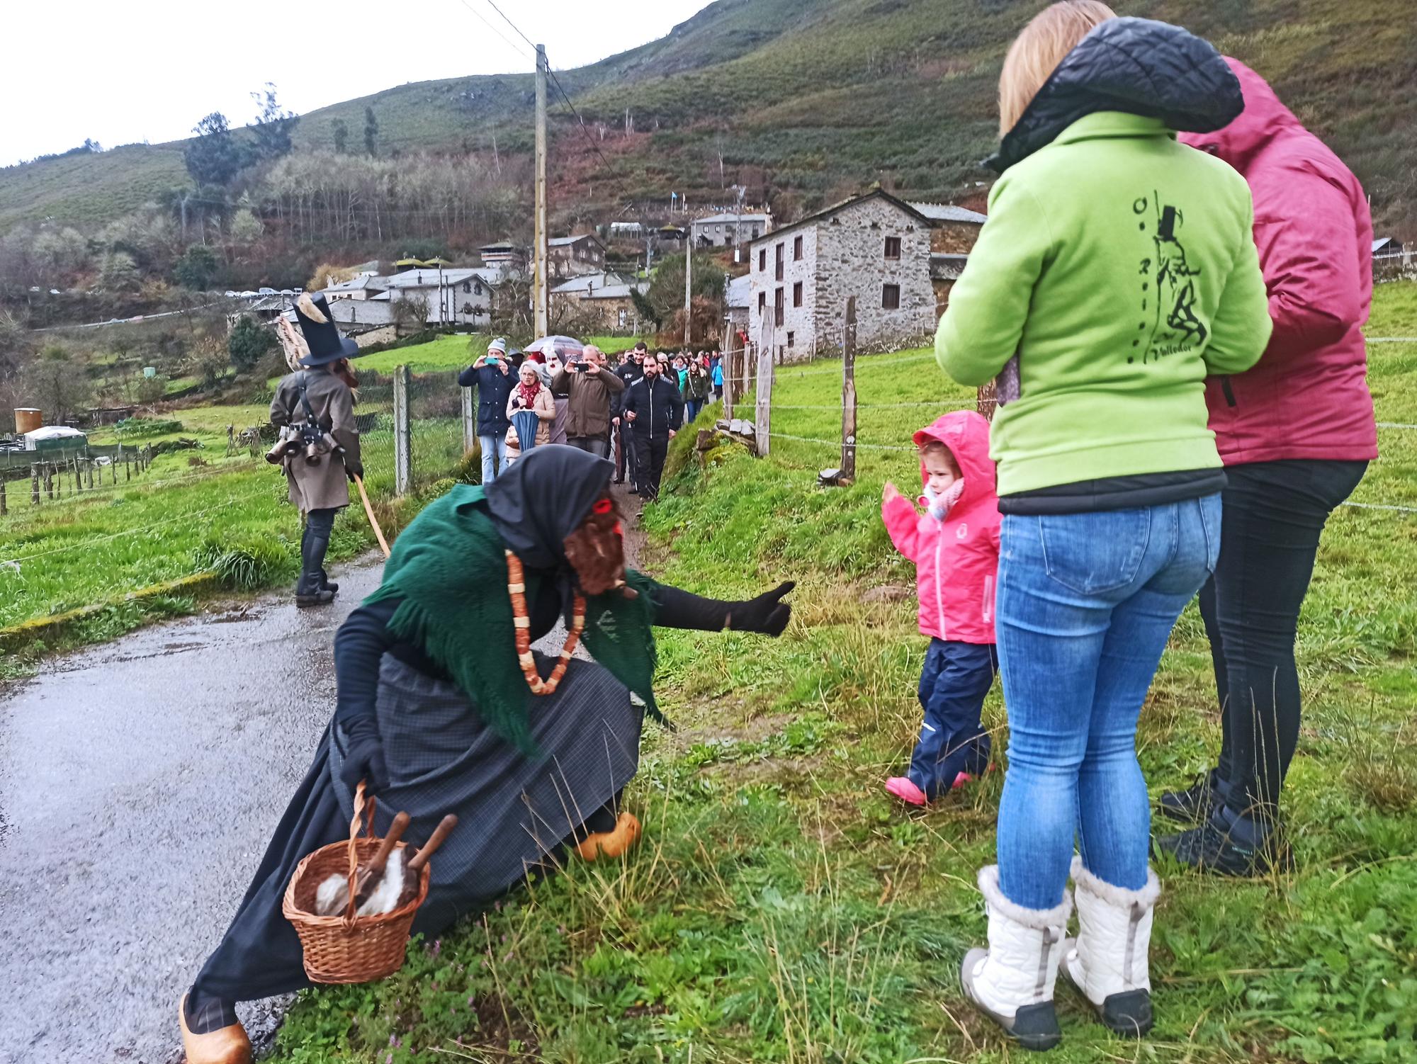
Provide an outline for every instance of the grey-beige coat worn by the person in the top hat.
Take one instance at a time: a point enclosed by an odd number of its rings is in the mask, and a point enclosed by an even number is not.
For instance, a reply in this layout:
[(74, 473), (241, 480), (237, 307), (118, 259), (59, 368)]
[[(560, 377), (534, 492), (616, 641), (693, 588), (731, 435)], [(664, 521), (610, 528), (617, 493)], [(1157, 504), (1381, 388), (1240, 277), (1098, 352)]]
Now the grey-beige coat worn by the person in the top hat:
[[(322, 367), (303, 373), (305, 391), (316, 422), (344, 448), (344, 453), (324, 455), (317, 465), (309, 465), (303, 455), (286, 458), (285, 476), (290, 485), (290, 502), (300, 507), (300, 513), (349, 506), (346, 469), (363, 469), (359, 455), (359, 428), (354, 425), (354, 392), (344, 381)], [(275, 398), (271, 400), (271, 424), (278, 428), (302, 425), (306, 421), (298, 378), (299, 374), (288, 374), (275, 388)]]

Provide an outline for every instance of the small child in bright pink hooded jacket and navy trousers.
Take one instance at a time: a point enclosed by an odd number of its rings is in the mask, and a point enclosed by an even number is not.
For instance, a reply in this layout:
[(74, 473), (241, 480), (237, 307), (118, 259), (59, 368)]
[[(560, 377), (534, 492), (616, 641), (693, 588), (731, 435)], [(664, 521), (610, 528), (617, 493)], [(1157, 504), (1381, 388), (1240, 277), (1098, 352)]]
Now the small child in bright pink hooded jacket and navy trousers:
[(999, 496), (989, 460), (989, 422), (973, 411), (945, 414), (915, 434), (924, 494), (918, 513), (887, 483), (881, 520), (896, 550), (915, 562), (920, 630), (930, 636), (920, 676), (925, 721), (904, 776), (886, 781), (922, 806), (989, 765), (979, 723), (999, 657), (993, 585), (999, 571)]

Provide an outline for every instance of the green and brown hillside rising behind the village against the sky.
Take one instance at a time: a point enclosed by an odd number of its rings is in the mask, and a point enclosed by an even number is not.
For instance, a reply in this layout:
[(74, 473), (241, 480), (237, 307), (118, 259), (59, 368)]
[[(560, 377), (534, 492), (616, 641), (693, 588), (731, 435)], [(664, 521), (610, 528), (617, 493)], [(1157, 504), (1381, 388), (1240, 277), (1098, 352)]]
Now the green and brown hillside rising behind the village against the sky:
[[(1183, 23), (1255, 67), (1355, 169), (1380, 231), (1417, 235), (1408, 0), (1117, 6)], [(743, 183), (751, 198), (775, 201), (791, 191), (811, 207), (871, 180), (958, 197), (989, 177), (978, 160), (995, 139), (999, 64), (1039, 7), (1039, 0), (718, 0), (657, 41), (557, 72), (605, 136), (597, 132), (592, 149), (553, 88), (553, 204), (608, 207), (667, 198), (670, 190), (691, 203), (724, 201), (724, 186)], [(520, 21), (534, 33), (534, 13)], [(298, 149), (329, 147), (334, 119), (359, 140), (366, 106), (377, 115), (383, 152), (490, 152), (493, 136), (503, 159), (530, 147), (527, 74), (418, 82), (323, 108), (303, 116)], [(625, 133), (626, 111), (633, 135)], [(27, 218), (116, 217), (183, 180), (180, 147), (128, 146), (3, 170), (0, 231)]]

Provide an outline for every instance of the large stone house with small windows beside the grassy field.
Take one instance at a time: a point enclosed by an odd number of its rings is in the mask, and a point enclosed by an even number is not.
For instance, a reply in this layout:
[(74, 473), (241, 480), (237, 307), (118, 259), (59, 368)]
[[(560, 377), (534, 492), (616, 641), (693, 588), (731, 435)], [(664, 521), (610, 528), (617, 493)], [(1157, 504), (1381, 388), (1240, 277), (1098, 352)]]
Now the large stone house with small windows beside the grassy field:
[(857, 350), (922, 340), (935, 326), (931, 220), (880, 188), (754, 241), (748, 334), (779, 361), (842, 344), (856, 296)]

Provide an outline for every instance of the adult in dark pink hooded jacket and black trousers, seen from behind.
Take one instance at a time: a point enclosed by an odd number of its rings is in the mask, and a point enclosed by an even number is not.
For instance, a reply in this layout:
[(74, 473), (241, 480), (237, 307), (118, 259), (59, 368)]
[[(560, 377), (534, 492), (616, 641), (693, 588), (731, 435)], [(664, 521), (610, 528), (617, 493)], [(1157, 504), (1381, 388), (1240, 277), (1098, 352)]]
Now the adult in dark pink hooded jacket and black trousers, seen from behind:
[(1206, 384), (1229, 479), (1220, 561), (1200, 592), (1223, 740), (1217, 768), (1161, 799), (1163, 815), (1199, 826), (1158, 846), (1185, 864), (1251, 876), (1292, 860), (1275, 829), (1299, 735), (1299, 606), (1328, 516), (1377, 458), (1363, 343), (1373, 222), (1342, 160), (1258, 74), (1226, 62), (1244, 112), (1182, 140), (1250, 184), (1274, 334), (1254, 368)]

